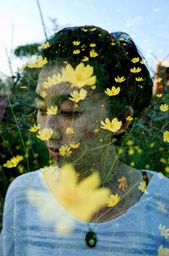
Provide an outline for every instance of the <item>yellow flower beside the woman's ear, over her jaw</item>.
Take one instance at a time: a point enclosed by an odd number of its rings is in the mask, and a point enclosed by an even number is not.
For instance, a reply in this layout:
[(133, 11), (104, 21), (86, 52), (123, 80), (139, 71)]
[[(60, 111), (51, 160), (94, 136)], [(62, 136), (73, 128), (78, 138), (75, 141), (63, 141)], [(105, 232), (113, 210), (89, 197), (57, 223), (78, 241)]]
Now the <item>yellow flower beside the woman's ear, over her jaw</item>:
[(112, 121), (110, 121), (108, 118), (106, 118), (105, 123), (101, 120), (101, 125), (102, 129), (116, 132), (120, 130), (122, 126), (122, 121), (118, 121), (117, 118), (113, 118)]

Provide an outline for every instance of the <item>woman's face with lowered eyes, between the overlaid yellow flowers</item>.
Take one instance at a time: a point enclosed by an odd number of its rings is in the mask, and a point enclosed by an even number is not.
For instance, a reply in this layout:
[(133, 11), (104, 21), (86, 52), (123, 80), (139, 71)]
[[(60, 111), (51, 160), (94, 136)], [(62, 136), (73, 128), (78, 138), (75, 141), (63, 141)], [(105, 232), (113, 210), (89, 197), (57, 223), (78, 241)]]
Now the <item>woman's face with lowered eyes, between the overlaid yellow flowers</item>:
[[(62, 67), (46, 67), (41, 70), (39, 75), (36, 92), (38, 95), (44, 91), (42, 86), (47, 77), (61, 73)], [(69, 142), (79, 143), (79, 148), (72, 149), (70, 159), (80, 158), (81, 153), (85, 153), (86, 145), (95, 148), (100, 146), (101, 139), (98, 140), (99, 134), (95, 129), (100, 129), (101, 120), (107, 116), (106, 100), (101, 93), (95, 92), (89, 86), (85, 86), (88, 91), (85, 100), (79, 101), (79, 107), (74, 108), (74, 102), (68, 99), (70, 93), (77, 88), (71, 88), (68, 83), (49, 87), (44, 98), (37, 97), (37, 122), (41, 129), (52, 128), (53, 135), (46, 141), (46, 147), (50, 156), (59, 163), (62, 157), (59, 154), (59, 148), (68, 145)], [(46, 114), (46, 110), (51, 106), (57, 106), (57, 114)], [(68, 134), (68, 128), (71, 127), (74, 133)], [(90, 148), (91, 149), (91, 148)], [(69, 160), (70, 160), (69, 159)], [(82, 158), (83, 159), (83, 158)]]

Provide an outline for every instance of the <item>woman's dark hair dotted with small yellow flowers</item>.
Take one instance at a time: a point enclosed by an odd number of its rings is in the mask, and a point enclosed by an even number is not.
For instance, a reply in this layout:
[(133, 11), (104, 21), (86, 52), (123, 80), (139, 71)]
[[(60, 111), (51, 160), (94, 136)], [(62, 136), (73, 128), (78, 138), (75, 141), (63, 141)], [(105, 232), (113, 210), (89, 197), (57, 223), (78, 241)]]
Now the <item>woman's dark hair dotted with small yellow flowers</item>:
[[(106, 88), (120, 86), (121, 91), (116, 97), (108, 97), (111, 115), (123, 114), (125, 106), (134, 109), (134, 116), (149, 105), (152, 95), (152, 81), (149, 70), (143, 57), (139, 54), (134, 42), (123, 32), (109, 33), (94, 25), (64, 28), (58, 31), (47, 42), (50, 47), (41, 50), (41, 55), (46, 57), (48, 64), (61, 64), (65, 62), (74, 67), (83, 62), (84, 57), (90, 56), (92, 43), (95, 43), (95, 52), (98, 56), (89, 58), (85, 64), (94, 68), (97, 76), (96, 90), (104, 92)], [(80, 42), (74, 45), (73, 42)], [(78, 54), (73, 51), (79, 49)], [(133, 63), (133, 58), (138, 58)], [(131, 72), (131, 69), (141, 68), (139, 73)], [(125, 81), (119, 83), (115, 78), (124, 76)], [(136, 77), (142, 77), (143, 81), (136, 81)], [(106, 95), (106, 94), (105, 94)]]

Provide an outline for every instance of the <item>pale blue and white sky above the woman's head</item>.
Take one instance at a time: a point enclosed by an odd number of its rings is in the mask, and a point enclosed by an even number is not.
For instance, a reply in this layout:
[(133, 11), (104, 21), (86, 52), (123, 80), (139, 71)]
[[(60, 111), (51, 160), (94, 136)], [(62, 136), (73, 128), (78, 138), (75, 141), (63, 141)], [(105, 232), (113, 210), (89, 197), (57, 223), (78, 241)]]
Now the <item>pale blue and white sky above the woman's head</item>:
[[(127, 32), (146, 58), (151, 74), (155, 63), (169, 59), (168, 0), (39, 0), (47, 36), (53, 34), (52, 19), (60, 28), (98, 25), (109, 32)], [(10, 75), (8, 56), (16, 71), (23, 60), (14, 58), (19, 45), (44, 42), (36, 0), (0, 0), (0, 76)]]

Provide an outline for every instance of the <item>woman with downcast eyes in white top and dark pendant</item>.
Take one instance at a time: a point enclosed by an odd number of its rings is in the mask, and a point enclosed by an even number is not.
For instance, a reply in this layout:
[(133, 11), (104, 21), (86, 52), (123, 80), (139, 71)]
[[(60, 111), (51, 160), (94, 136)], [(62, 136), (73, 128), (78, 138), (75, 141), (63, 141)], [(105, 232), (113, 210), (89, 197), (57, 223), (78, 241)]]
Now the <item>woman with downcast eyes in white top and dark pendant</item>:
[[(57, 169), (21, 175), (9, 187), (2, 255), (167, 255), (168, 180), (123, 164), (115, 147), (152, 92), (134, 42), (122, 32), (84, 26), (57, 32), (41, 48), (40, 58), (28, 64), (42, 67), (37, 137)], [(90, 181), (78, 186), (65, 163), (74, 164), (80, 182), (91, 175)], [(101, 177), (101, 202), (92, 191), (99, 184), (94, 170)], [(63, 183), (68, 190), (59, 190)], [(82, 193), (86, 183), (90, 192)], [(79, 198), (77, 191), (86, 195), (79, 210), (72, 199)], [(95, 201), (95, 210), (85, 215)]]

